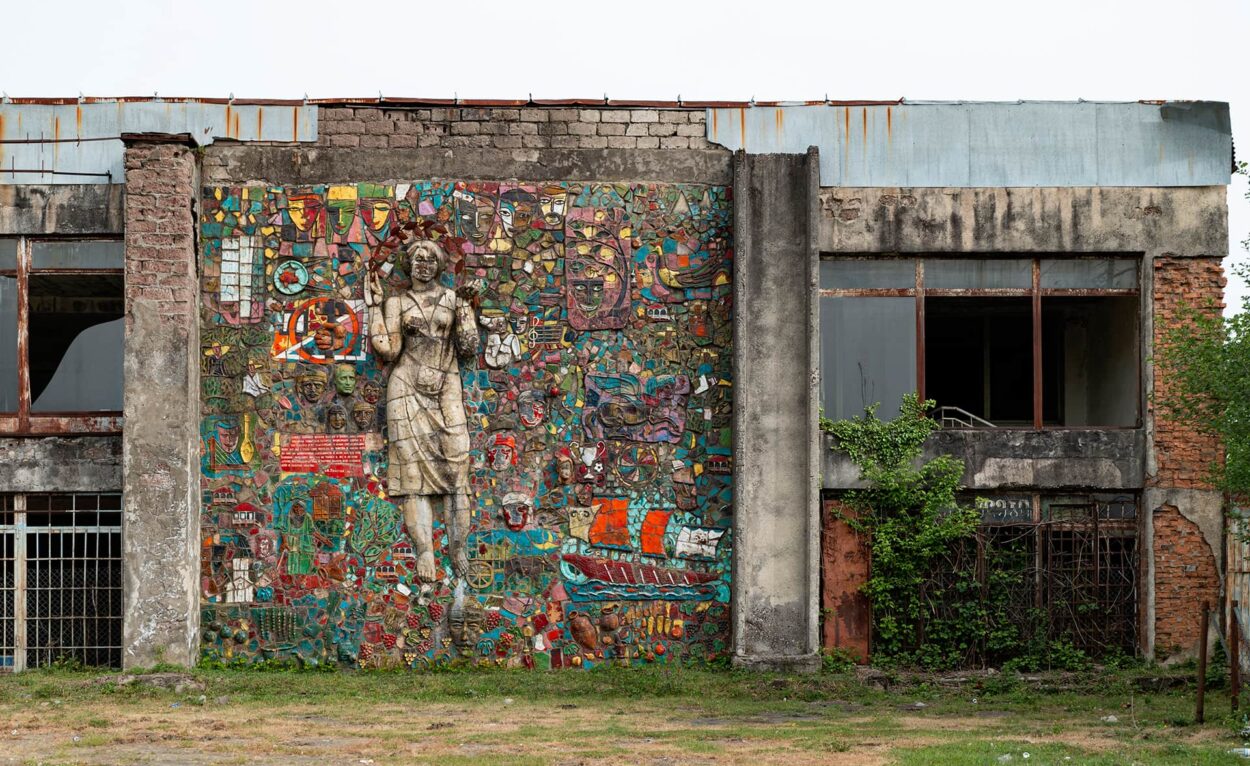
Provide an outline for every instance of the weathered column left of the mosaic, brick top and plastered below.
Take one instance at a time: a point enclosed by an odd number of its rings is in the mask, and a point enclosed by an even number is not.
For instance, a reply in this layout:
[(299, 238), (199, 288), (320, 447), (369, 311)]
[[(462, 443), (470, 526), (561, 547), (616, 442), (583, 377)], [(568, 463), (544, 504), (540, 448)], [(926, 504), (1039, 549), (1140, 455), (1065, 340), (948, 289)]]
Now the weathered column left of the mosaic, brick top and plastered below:
[(195, 154), (126, 136), (122, 540), (128, 667), (196, 659), (199, 326)]

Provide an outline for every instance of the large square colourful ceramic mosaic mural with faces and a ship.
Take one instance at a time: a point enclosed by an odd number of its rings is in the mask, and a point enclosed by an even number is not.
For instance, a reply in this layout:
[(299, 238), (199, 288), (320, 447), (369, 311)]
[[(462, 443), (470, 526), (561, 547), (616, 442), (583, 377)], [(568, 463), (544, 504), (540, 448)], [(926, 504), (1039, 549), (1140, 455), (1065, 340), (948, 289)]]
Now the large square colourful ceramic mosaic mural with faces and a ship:
[(726, 187), (208, 187), (200, 214), (206, 657), (728, 652)]

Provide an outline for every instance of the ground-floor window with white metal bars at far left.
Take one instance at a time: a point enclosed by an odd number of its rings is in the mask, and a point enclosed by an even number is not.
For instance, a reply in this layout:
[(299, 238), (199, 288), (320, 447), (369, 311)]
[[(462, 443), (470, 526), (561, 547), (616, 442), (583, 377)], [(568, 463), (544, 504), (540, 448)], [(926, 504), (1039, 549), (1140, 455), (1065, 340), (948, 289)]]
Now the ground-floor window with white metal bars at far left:
[(121, 666), (121, 495), (0, 495), (0, 671)]

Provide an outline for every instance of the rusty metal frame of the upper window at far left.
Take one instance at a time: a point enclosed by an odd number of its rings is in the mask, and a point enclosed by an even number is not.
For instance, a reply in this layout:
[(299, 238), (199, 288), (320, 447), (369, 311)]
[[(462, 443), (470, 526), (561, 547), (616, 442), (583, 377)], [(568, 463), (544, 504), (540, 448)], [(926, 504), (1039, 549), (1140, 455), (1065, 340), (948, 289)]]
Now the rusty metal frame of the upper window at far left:
[[(30, 276), (31, 274), (120, 275), (125, 269), (35, 269), (31, 251), (36, 242), (120, 242), (120, 236), (19, 236), (18, 240), (18, 411), (0, 412), (0, 436), (42, 434), (120, 434), (122, 414), (30, 411)], [(0, 270), (14, 275), (14, 270)]]

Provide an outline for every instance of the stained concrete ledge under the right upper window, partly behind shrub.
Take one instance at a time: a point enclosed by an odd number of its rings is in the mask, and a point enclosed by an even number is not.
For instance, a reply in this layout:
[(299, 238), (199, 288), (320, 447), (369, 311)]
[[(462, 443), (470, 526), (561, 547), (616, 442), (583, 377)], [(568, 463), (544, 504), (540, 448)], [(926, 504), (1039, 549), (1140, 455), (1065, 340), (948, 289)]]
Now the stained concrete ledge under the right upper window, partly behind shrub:
[[(862, 486), (859, 469), (832, 451), (825, 436), (821, 484), (826, 490)], [(925, 444), (925, 459), (952, 455), (964, 461), (970, 490), (1108, 489), (1144, 486), (1145, 432), (985, 429), (938, 431)]]

